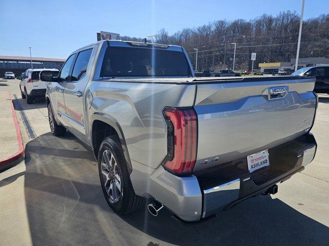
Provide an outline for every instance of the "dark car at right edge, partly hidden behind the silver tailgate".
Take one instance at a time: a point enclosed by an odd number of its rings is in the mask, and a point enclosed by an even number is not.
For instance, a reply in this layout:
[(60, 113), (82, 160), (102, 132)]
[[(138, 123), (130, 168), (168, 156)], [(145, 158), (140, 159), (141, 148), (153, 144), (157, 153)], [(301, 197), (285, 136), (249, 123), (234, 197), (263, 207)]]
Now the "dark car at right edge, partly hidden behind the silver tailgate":
[(329, 94), (329, 66), (306, 67), (291, 75), (302, 77), (316, 77), (314, 92)]

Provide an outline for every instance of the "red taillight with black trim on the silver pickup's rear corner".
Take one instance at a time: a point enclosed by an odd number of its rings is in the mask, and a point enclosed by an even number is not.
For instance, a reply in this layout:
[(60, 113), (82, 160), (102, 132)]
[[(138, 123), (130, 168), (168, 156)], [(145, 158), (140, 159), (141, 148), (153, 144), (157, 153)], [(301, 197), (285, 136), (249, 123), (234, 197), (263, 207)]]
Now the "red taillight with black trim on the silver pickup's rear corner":
[(174, 174), (193, 171), (197, 148), (197, 115), (193, 108), (165, 108), (168, 155), (165, 168)]

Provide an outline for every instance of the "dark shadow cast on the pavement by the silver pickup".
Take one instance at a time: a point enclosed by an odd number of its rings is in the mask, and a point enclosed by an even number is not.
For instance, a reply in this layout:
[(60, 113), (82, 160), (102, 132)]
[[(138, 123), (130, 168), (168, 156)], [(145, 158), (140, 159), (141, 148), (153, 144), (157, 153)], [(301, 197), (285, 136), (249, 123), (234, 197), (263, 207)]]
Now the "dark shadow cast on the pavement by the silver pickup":
[(92, 151), (71, 134), (28, 142), (25, 200), (34, 245), (328, 245), (329, 228), (280, 199), (258, 196), (186, 225), (167, 210), (153, 217), (144, 206), (119, 216), (103, 197)]

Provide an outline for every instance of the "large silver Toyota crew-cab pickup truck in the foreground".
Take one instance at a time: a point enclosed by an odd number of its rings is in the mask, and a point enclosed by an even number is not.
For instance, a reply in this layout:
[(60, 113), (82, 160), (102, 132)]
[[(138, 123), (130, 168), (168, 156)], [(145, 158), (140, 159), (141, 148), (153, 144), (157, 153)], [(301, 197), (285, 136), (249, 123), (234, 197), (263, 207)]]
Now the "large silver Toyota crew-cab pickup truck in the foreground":
[(153, 215), (205, 220), (275, 194), (316, 153), (314, 77), (196, 79), (182, 47), (106, 40), (40, 78), (52, 134), (93, 150), (119, 214), (149, 198)]

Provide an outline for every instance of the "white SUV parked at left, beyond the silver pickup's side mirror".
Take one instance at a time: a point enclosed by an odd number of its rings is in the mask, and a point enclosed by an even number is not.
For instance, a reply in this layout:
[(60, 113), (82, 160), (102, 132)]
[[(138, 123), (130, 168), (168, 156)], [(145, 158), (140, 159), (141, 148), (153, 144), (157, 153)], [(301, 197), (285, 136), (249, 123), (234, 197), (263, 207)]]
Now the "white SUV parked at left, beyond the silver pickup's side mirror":
[(53, 74), (59, 73), (58, 69), (28, 69), (21, 77), (20, 90), (23, 99), (26, 99), (28, 104), (33, 104), (33, 99), (36, 97), (45, 97), (46, 82), (41, 81), (39, 74), (41, 71), (53, 71)]

